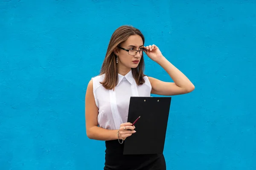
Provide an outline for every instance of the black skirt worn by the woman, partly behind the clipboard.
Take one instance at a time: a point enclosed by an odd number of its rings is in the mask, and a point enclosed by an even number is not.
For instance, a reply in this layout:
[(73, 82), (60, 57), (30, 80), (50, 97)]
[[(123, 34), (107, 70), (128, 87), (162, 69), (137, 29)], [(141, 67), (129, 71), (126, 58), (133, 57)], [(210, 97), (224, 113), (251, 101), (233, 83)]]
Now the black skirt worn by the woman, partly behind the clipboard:
[(162, 153), (123, 155), (124, 143), (119, 144), (118, 140), (105, 141), (104, 170), (166, 170)]

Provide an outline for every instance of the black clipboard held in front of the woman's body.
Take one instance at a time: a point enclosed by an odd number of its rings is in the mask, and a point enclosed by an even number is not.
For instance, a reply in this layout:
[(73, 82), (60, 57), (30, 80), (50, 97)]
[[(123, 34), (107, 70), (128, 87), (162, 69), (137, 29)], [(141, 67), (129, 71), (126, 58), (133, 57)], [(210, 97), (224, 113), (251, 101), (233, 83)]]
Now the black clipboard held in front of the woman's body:
[(130, 98), (128, 121), (135, 123), (136, 133), (124, 141), (123, 154), (163, 153), (172, 97)]

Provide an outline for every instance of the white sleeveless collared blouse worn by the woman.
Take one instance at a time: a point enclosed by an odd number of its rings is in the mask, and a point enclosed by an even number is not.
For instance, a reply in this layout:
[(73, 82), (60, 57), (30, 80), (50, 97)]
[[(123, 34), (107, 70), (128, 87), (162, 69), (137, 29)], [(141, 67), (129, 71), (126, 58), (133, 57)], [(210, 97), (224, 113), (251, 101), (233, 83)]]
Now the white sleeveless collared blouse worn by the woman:
[[(150, 96), (151, 84), (147, 76), (145, 83), (137, 85), (130, 71), (125, 76), (118, 74), (118, 84), (115, 90), (105, 89), (100, 82), (105, 74), (93, 77), (93, 95), (99, 108), (99, 127), (116, 130), (122, 123), (127, 122), (131, 96)], [(132, 122), (131, 122), (132, 123)]]

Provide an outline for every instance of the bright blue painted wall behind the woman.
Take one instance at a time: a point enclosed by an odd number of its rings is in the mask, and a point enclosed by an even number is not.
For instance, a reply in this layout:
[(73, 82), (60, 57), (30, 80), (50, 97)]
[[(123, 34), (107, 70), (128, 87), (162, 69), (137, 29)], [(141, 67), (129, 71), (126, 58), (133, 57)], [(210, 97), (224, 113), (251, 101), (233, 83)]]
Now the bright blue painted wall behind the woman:
[[(99, 170), (84, 95), (132, 25), (195, 84), (173, 96), (168, 170), (256, 169), (256, 1), (0, 1), (0, 170)], [(145, 59), (149, 76), (170, 81)]]

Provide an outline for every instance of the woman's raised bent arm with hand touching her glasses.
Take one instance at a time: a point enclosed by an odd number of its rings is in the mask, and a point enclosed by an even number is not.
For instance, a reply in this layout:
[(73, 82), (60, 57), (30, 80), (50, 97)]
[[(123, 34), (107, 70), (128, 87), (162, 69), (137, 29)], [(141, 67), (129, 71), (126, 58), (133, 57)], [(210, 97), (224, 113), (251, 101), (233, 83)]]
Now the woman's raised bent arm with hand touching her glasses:
[(151, 94), (173, 96), (178, 94), (186, 94), (195, 89), (195, 86), (190, 80), (171, 62), (169, 62), (161, 53), (156, 45), (145, 47), (148, 51), (146, 54), (153, 61), (157, 62), (172, 78), (174, 82), (163, 82), (153, 77), (148, 77), (152, 90)]

